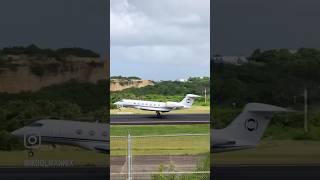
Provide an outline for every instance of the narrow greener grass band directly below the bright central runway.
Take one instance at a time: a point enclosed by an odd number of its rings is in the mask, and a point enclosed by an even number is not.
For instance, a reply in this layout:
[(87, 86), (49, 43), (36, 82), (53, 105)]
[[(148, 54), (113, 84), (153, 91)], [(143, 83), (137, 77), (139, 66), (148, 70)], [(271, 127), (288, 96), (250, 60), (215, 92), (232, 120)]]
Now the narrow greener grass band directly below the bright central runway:
[(203, 134), (210, 133), (209, 124), (193, 125), (110, 125), (110, 136), (167, 135), (167, 134)]

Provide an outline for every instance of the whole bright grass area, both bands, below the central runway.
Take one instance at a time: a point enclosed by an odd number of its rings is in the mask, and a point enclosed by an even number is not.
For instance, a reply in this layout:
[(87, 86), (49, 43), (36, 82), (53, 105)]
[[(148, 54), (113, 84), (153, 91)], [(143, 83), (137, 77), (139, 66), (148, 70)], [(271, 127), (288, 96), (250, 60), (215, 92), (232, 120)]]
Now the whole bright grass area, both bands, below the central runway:
[[(157, 125), (157, 126), (110, 126), (111, 136), (208, 134), (206, 136), (143, 137), (133, 138), (135, 155), (188, 155), (210, 151), (210, 125)], [(126, 154), (127, 139), (111, 138), (111, 155)]]

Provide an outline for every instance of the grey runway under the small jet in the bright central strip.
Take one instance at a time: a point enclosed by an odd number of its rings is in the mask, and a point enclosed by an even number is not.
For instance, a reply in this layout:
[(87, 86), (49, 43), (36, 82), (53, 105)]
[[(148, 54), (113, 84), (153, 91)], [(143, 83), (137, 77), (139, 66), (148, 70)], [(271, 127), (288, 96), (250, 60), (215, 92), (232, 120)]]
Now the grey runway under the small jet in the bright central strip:
[(111, 115), (111, 125), (209, 124), (209, 114), (123, 114)]

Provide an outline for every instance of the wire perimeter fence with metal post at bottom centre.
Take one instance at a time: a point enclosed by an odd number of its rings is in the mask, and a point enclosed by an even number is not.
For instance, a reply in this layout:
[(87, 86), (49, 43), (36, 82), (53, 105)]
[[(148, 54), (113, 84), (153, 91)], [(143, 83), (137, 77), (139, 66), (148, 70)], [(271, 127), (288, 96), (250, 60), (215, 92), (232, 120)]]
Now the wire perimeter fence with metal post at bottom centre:
[(210, 179), (210, 135), (111, 136), (111, 179)]

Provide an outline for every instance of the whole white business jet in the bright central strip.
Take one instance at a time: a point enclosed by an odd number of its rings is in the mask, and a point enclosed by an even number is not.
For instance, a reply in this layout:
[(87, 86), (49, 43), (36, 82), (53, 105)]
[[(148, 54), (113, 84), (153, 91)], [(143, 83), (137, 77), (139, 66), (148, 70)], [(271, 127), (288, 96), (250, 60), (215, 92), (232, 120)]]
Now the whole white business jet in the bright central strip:
[(157, 101), (142, 101), (142, 100), (132, 100), (132, 99), (122, 99), (114, 104), (118, 108), (135, 108), (146, 111), (155, 111), (157, 116), (160, 116), (160, 112), (169, 112), (178, 109), (191, 108), (192, 103), (196, 98), (201, 96), (195, 94), (187, 94), (186, 97), (181, 102), (157, 102)]

